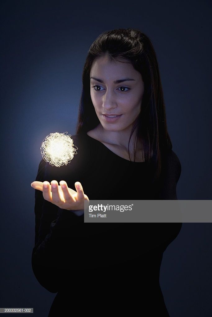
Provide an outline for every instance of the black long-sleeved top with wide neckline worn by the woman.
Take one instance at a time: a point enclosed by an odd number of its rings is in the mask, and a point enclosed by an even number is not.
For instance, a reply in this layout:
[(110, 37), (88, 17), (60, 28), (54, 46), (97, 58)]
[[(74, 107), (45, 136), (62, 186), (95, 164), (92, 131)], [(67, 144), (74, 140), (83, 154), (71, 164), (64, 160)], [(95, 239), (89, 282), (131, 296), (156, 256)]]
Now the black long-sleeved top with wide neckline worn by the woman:
[[(74, 190), (79, 181), (90, 200), (177, 199), (181, 164), (172, 150), (162, 153), (161, 177), (152, 183), (153, 165), (123, 159), (87, 134), (72, 138), (78, 150), (71, 163), (55, 167), (42, 159), (37, 181), (65, 180)], [(88, 304), (93, 298), (94, 306), (106, 301), (109, 309), (116, 303), (119, 313), (132, 314), (139, 305), (145, 316), (169, 316), (159, 285), (160, 265), (181, 225), (84, 223), (84, 215), (58, 208), (35, 190), (33, 272), (44, 288), (58, 292), (54, 311), (67, 302), (77, 307), (80, 298)]]

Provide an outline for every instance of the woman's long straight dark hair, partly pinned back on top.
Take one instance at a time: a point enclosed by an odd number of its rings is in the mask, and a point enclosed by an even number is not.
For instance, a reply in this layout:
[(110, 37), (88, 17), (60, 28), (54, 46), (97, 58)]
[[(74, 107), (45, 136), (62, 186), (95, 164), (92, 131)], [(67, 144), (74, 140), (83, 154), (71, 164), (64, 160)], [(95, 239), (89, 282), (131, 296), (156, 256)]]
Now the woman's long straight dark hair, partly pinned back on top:
[(101, 33), (90, 46), (82, 75), (83, 89), (77, 134), (87, 133), (100, 123), (90, 95), (90, 71), (94, 59), (105, 54), (109, 56), (110, 61), (127, 59), (142, 76), (144, 94), (141, 111), (131, 131), (128, 152), (130, 139), (135, 132), (134, 161), (140, 141), (144, 152), (143, 160), (154, 163), (154, 181), (161, 173), (161, 152), (171, 150), (172, 143), (167, 131), (165, 103), (156, 54), (150, 39), (140, 30), (128, 28), (106, 31)]

